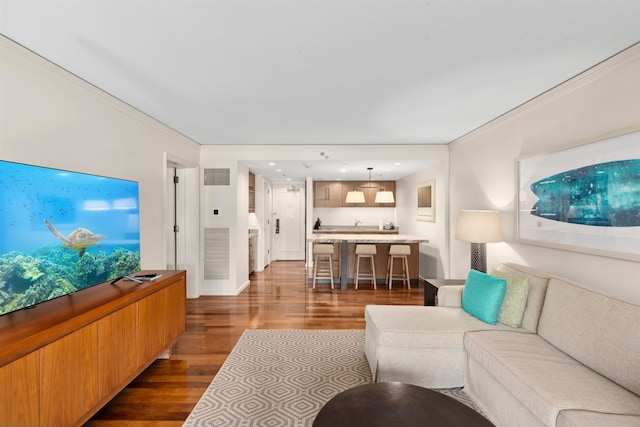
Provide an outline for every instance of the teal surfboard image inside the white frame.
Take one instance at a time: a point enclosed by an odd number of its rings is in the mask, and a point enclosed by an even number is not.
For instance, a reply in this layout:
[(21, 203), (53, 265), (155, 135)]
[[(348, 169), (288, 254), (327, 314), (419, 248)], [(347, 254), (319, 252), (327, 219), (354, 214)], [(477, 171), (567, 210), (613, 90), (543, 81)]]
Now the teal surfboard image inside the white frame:
[(640, 159), (598, 163), (531, 184), (531, 214), (598, 227), (640, 226)]

